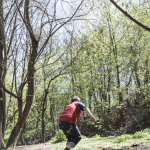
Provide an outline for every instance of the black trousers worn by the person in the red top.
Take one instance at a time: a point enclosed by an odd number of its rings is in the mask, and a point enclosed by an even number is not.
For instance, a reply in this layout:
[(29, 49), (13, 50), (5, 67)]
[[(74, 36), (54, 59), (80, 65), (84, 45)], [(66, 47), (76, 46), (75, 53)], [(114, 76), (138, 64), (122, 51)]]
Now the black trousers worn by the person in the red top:
[(81, 133), (76, 124), (60, 121), (59, 127), (68, 139), (67, 144), (75, 147), (75, 145), (81, 140)]

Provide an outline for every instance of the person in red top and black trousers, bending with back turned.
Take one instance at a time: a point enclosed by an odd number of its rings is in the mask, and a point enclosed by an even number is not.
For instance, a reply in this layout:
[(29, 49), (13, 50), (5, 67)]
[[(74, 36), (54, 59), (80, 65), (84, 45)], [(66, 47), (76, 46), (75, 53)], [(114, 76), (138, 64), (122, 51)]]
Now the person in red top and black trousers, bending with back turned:
[(64, 150), (70, 150), (71, 148), (74, 148), (81, 140), (81, 133), (76, 125), (76, 122), (82, 111), (85, 111), (88, 116), (91, 117), (93, 122), (96, 122), (96, 119), (92, 115), (89, 108), (81, 103), (80, 98), (77, 96), (72, 98), (71, 104), (66, 106), (59, 118), (59, 127), (68, 139), (66, 148)]

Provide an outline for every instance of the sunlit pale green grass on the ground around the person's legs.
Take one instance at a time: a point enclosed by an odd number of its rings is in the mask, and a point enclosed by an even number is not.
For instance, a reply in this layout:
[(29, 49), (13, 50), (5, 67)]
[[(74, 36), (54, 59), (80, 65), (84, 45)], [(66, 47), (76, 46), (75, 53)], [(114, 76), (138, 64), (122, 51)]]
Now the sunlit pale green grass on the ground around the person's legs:
[[(100, 148), (121, 149), (122, 147), (131, 147), (135, 143), (150, 146), (150, 129), (136, 132), (134, 135), (124, 134), (118, 137), (100, 137), (96, 135), (93, 138), (84, 138), (78, 143), (74, 150), (98, 150)], [(65, 145), (66, 142), (57, 143), (53, 145), (52, 150), (63, 149)]]

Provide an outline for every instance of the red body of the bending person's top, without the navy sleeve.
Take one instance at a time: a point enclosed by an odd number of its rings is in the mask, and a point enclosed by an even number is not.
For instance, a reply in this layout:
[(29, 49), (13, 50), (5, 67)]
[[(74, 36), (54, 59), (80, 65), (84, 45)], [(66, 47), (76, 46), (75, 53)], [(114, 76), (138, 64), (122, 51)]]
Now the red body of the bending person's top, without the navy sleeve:
[(81, 114), (81, 110), (78, 107), (78, 102), (73, 102), (66, 106), (65, 110), (61, 114), (59, 121), (66, 121), (69, 123), (76, 123)]

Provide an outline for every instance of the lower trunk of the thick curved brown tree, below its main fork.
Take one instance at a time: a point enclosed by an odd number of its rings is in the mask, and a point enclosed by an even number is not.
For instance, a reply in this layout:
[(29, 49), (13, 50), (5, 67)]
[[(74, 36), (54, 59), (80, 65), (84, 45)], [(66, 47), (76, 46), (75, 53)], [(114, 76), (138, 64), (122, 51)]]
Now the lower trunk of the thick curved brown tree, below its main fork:
[[(35, 47), (37, 49), (37, 46)], [(33, 46), (33, 52), (31, 54), (30, 60), (29, 60), (29, 65), (28, 65), (28, 92), (27, 92), (27, 97), (26, 97), (26, 106), (24, 109), (24, 112), (22, 113), (22, 99), (18, 99), (18, 108), (19, 108), (19, 116), (18, 116), (18, 121), (17, 125), (14, 127), (13, 131), (11, 132), (11, 135), (9, 137), (8, 143), (7, 143), (7, 150), (12, 150), (15, 148), (17, 144), (17, 140), (20, 136), (20, 133), (22, 131), (22, 128), (24, 126), (24, 123), (27, 119), (27, 116), (29, 114), (32, 101), (33, 101), (33, 96), (34, 96), (34, 61), (35, 61), (35, 50)]]

